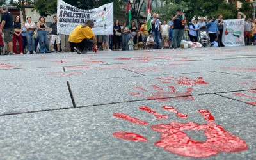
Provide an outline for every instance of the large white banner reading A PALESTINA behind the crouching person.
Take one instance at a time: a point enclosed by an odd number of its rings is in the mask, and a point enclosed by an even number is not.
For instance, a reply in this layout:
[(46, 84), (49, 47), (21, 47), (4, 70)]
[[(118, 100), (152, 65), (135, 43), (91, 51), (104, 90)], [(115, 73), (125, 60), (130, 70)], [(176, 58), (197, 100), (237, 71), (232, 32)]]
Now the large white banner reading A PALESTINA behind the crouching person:
[(92, 29), (94, 35), (113, 34), (114, 8), (113, 2), (95, 8), (83, 10), (71, 6), (62, 0), (58, 0), (57, 8), (58, 33), (69, 35), (79, 24), (84, 24), (88, 19), (93, 20)]

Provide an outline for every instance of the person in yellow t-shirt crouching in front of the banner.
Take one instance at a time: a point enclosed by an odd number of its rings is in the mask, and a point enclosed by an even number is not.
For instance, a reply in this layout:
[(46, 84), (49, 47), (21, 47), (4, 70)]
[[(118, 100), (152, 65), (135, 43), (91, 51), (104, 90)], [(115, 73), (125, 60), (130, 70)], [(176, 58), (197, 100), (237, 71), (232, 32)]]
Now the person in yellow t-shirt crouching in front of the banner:
[(97, 52), (97, 38), (92, 31), (93, 26), (94, 22), (92, 20), (86, 20), (84, 25), (76, 26), (68, 38), (71, 47), (70, 52), (76, 51), (78, 54), (84, 54), (88, 47), (92, 45), (93, 51)]

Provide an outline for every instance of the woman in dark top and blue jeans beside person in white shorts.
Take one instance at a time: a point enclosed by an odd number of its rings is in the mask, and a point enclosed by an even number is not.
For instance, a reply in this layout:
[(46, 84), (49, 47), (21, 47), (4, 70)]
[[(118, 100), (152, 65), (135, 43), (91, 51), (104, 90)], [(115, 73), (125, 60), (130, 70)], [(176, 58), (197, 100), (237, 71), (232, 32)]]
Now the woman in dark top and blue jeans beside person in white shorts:
[(47, 25), (45, 22), (45, 18), (44, 17), (39, 17), (39, 20), (36, 24), (37, 28), (38, 28), (38, 42), (40, 43), (40, 49), (39, 52), (40, 53), (49, 53), (49, 40), (46, 34), (46, 29)]

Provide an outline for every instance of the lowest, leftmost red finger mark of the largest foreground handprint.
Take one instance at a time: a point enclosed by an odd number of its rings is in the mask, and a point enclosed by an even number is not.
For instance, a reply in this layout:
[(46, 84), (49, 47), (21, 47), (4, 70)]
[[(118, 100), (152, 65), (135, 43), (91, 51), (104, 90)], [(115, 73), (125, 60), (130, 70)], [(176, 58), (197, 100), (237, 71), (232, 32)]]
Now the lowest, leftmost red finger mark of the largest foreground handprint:
[(140, 134), (132, 132), (115, 132), (113, 133), (113, 136), (128, 141), (147, 141), (147, 139), (141, 136)]

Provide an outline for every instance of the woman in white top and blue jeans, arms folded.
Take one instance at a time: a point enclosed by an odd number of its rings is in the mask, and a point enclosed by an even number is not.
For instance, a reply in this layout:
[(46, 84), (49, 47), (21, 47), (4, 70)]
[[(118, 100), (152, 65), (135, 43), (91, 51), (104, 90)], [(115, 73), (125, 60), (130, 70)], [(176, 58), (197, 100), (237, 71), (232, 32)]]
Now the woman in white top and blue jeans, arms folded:
[(36, 29), (36, 24), (31, 22), (31, 17), (27, 17), (28, 22), (25, 24), (25, 28), (27, 29), (26, 36), (27, 36), (27, 54), (33, 52), (35, 54), (36, 52), (33, 51), (35, 49), (35, 36), (34, 31)]

